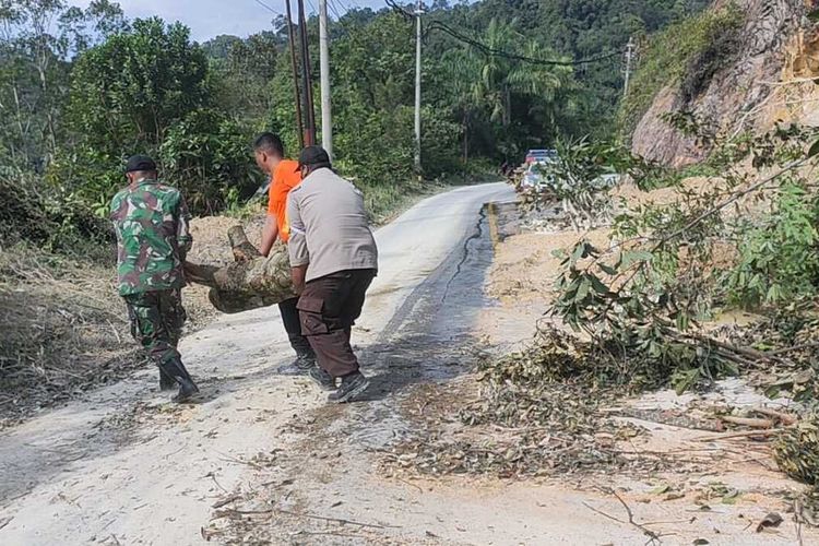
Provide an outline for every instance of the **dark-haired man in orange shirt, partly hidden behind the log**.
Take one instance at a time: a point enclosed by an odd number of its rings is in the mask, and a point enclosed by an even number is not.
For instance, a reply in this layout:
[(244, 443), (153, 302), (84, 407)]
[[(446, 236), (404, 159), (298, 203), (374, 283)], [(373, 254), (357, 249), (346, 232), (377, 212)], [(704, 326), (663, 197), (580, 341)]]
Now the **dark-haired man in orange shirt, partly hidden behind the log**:
[[(256, 164), (271, 177), (268, 218), (262, 230), (262, 244), (259, 251), (268, 256), (276, 239), (287, 242), (290, 230), (287, 224), (287, 194), (293, 188), (301, 183), (301, 174), (298, 162), (284, 158), (284, 144), (282, 139), (273, 133), (262, 133), (253, 144)], [(290, 373), (306, 373), (316, 366), (316, 354), (310, 348), (307, 337), (301, 335), (301, 323), (299, 321), (298, 297), (278, 304), (282, 313), (282, 322), (287, 331), (290, 345), (296, 351), (296, 360), (293, 365), (285, 367), (282, 371)]]

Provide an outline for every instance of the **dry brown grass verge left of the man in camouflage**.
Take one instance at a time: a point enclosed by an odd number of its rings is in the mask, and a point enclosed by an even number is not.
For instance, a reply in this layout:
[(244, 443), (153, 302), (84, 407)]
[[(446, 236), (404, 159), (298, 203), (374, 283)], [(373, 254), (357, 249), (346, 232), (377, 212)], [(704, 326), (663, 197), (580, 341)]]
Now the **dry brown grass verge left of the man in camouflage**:
[(0, 428), (141, 365), (114, 270), (24, 245), (0, 252)]

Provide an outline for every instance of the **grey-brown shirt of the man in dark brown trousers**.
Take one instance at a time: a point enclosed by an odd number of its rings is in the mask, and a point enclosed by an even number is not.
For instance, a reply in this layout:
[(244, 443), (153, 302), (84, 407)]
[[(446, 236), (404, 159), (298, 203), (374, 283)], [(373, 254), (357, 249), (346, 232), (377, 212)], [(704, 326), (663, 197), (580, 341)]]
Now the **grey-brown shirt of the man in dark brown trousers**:
[(378, 269), (378, 249), (364, 195), (331, 169), (320, 168), (287, 198), (290, 265), (308, 265), (307, 282), (347, 270)]

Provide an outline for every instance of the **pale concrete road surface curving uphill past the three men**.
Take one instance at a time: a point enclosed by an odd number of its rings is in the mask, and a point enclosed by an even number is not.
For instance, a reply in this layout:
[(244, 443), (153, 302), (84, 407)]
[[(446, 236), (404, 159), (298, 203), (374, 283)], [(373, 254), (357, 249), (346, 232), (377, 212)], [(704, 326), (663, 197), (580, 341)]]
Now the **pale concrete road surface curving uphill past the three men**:
[[(453, 280), (482, 205), (511, 199), (503, 183), (460, 188), (378, 230), (380, 272), (355, 329), (365, 353), (378, 355), (411, 317), (420, 320), (428, 280), (437, 280), (439, 302), (455, 285), (470, 289), (468, 280)], [(275, 310), (223, 317), (181, 351), (201, 404), (165, 403), (155, 370), (144, 370), (0, 437), (0, 544), (198, 544), (219, 499), (251, 487), (253, 471), (294, 460), (304, 440), (294, 423), (324, 396), (304, 378), (275, 373), (290, 357)], [(376, 392), (395, 388), (376, 383)]]

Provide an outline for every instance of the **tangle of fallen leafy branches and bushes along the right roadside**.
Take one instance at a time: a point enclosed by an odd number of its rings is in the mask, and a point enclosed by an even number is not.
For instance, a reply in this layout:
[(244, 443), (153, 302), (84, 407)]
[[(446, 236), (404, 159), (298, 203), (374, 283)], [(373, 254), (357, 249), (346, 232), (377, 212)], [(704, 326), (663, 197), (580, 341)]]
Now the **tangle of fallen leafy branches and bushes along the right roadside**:
[[(716, 305), (783, 307), (817, 294), (818, 198), (797, 170), (815, 138), (798, 126), (743, 138), (741, 156), (770, 175), (734, 166), (711, 186), (676, 188), (668, 204), (626, 210), (607, 251), (581, 242), (566, 258), (551, 312), (604, 348), (594, 357), (601, 369), (654, 378), (646, 385), (681, 392), (735, 373), (748, 354), (699, 328)], [(765, 213), (759, 205), (771, 197)], [(725, 253), (732, 245), (736, 264)], [(725, 271), (714, 265), (717, 248)]]

